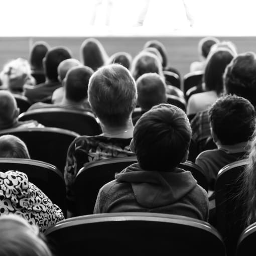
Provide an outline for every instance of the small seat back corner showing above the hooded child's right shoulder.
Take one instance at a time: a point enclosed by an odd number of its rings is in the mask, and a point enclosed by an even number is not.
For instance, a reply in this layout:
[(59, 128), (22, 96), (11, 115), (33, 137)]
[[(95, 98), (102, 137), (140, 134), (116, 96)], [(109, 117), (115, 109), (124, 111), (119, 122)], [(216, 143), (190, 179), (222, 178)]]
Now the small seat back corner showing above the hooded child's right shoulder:
[(198, 185), (208, 192), (208, 182), (200, 166), (190, 161), (186, 161), (185, 163), (180, 163), (178, 167), (186, 171), (190, 171), (193, 177), (197, 180)]

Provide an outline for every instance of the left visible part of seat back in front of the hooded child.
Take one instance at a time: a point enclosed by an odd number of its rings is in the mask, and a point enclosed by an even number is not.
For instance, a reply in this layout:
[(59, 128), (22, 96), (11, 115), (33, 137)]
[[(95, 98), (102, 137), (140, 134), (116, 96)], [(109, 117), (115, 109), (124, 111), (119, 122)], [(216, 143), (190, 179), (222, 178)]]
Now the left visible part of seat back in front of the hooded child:
[(137, 162), (136, 157), (112, 158), (90, 162), (81, 168), (75, 178), (77, 215), (92, 214), (99, 189), (114, 175)]

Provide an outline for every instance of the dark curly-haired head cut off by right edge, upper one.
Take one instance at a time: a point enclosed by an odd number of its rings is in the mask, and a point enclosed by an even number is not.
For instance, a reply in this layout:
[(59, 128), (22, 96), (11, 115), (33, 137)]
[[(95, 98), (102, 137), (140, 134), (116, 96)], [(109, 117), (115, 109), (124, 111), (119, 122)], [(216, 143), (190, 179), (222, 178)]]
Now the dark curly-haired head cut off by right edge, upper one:
[(238, 54), (226, 67), (224, 91), (244, 97), (256, 107), (256, 55), (253, 52)]

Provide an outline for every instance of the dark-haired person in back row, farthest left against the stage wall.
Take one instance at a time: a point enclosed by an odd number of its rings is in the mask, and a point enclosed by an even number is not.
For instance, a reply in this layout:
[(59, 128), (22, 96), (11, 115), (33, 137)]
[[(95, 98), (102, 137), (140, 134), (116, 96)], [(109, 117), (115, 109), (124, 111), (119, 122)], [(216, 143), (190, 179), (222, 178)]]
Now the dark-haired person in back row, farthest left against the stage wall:
[(32, 46), (29, 60), (32, 69), (32, 76), (36, 79), (37, 84), (45, 82), (43, 59), (49, 49), (50, 46), (44, 41), (38, 41)]

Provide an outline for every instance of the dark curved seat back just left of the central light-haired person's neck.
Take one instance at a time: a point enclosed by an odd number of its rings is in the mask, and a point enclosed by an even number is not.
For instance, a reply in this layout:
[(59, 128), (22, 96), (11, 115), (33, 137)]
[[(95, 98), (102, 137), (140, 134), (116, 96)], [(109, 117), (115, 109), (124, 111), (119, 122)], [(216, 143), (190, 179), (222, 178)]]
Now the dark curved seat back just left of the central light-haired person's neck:
[(70, 130), (79, 135), (94, 136), (101, 134), (99, 122), (89, 111), (47, 107), (22, 113), (19, 115), (19, 120), (37, 120), (45, 126)]

